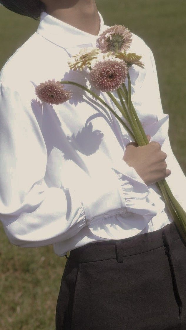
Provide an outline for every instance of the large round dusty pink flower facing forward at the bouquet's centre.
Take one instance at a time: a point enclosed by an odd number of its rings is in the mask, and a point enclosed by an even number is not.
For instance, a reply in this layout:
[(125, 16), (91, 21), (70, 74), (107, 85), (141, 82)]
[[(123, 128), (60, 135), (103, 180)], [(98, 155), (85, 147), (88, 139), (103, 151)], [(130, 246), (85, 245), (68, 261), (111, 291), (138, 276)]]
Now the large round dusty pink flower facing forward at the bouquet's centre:
[(113, 91), (125, 82), (128, 68), (124, 61), (100, 61), (94, 65), (90, 72), (92, 84), (102, 92)]

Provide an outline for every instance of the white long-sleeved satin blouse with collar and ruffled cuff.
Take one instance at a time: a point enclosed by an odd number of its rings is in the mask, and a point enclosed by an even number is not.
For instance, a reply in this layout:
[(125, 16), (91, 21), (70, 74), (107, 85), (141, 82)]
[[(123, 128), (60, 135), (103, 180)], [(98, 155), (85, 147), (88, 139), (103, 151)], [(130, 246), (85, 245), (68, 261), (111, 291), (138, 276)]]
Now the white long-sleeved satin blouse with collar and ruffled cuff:
[[(100, 34), (108, 26), (99, 16)], [(97, 37), (42, 12), (37, 31), (0, 72), (0, 219), (14, 245), (52, 244), (64, 256), (173, 221), (156, 184), (147, 186), (122, 159), (132, 140), (112, 113), (73, 85), (65, 85), (73, 97), (60, 105), (35, 94), (40, 82), (53, 78), (91, 87), (86, 70), (69, 70), (67, 62), (82, 47), (95, 47)], [(186, 211), (186, 177), (169, 144), (153, 53), (135, 34), (129, 51), (145, 64), (129, 69), (132, 102), (145, 133), (167, 153), (166, 180)], [(107, 94), (100, 95), (121, 116)]]

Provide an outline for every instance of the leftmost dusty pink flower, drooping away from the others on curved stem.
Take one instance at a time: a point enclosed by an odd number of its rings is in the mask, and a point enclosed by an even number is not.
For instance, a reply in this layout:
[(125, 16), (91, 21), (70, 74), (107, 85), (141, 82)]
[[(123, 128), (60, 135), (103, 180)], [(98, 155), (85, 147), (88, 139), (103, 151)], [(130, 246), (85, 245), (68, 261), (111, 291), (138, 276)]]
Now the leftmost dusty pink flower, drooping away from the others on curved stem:
[(41, 101), (49, 104), (61, 104), (68, 101), (72, 95), (71, 90), (65, 90), (63, 87), (64, 85), (53, 78), (52, 81), (41, 82), (35, 87), (35, 91)]

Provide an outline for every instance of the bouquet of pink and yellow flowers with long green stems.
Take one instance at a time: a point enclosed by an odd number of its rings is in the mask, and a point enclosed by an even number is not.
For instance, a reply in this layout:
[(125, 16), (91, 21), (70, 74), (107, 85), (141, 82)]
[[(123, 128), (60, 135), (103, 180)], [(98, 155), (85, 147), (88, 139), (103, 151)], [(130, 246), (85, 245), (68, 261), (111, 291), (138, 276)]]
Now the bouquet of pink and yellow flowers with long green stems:
[[(132, 42), (131, 37), (132, 34), (127, 27), (111, 26), (99, 36), (96, 48), (83, 48), (68, 62), (69, 68), (72, 70), (88, 70), (91, 85), (97, 90), (107, 93), (126, 119), (127, 124), (93, 90), (77, 82), (48, 80), (48, 82), (42, 82), (35, 87), (36, 95), (41, 101), (49, 104), (61, 104), (72, 97), (72, 92), (65, 90), (63, 84), (76, 85), (91, 94), (111, 111), (138, 146), (148, 144), (147, 136), (131, 101), (129, 68), (132, 65), (144, 68), (144, 64), (140, 61), (142, 56), (136, 55), (136, 53), (127, 53)], [(126, 78), (128, 79), (128, 89), (125, 85)], [(111, 93), (113, 91), (117, 92), (120, 103)], [(165, 179), (156, 182), (156, 184), (162, 191), (168, 210), (186, 242), (186, 212), (173, 196)]]

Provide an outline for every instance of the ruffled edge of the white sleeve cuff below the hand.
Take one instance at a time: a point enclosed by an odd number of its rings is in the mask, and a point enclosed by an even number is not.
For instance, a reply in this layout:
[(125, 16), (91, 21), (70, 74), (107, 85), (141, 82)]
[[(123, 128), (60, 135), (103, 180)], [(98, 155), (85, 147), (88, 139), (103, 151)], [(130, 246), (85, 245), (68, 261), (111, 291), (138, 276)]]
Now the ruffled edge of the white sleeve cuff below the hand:
[[(125, 167), (123, 164), (117, 162), (117, 168)], [(157, 215), (157, 207), (153, 205), (154, 198), (156, 201), (159, 195), (156, 192), (149, 191), (148, 186), (138, 178), (138, 174), (132, 167), (130, 168), (130, 175), (122, 174), (114, 169), (118, 176), (123, 191), (123, 198), (126, 202), (126, 209), (115, 210), (115, 214), (96, 221), (89, 225), (89, 229), (93, 235), (105, 239), (124, 239), (139, 234), (150, 222), (150, 220)], [(125, 172), (124, 172), (125, 173)], [(132, 177), (133, 176), (133, 177)], [(163, 209), (163, 205), (162, 205)]]

